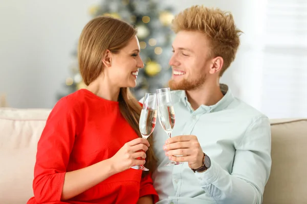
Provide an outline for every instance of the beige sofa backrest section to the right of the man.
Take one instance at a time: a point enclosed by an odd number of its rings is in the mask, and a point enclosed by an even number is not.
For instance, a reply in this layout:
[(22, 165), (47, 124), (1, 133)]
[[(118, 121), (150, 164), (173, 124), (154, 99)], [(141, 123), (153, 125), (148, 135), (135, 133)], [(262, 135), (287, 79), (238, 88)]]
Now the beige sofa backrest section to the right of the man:
[(272, 169), (264, 204), (307, 200), (307, 119), (271, 120)]

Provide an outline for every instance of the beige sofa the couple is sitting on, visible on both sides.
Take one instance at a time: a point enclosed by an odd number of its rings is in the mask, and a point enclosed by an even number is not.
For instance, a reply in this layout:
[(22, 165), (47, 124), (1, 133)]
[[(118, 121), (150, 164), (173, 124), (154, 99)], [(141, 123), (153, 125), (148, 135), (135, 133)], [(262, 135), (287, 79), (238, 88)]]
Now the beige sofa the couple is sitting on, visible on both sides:
[[(24, 204), (33, 196), (36, 143), (49, 113), (0, 108), (1, 204)], [(307, 203), (307, 119), (272, 120), (272, 160), (263, 203)]]

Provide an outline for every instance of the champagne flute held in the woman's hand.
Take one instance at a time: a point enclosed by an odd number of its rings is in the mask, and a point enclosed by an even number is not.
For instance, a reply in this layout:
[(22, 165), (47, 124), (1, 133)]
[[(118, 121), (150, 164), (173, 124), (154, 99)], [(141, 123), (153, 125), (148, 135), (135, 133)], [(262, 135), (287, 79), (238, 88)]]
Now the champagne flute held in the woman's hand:
[[(155, 130), (157, 121), (157, 97), (156, 94), (146, 93), (143, 101), (143, 109), (141, 111), (139, 128), (141, 135), (144, 139), (147, 139), (153, 130)], [(143, 165), (132, 166), (133, 169), (141, 169), (148, 171)]]

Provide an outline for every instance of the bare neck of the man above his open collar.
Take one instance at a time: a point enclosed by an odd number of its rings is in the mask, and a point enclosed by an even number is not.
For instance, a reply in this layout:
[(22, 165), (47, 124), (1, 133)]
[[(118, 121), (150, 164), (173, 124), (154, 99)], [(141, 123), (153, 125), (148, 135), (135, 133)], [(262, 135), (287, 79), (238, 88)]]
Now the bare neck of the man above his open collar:
[(196, 110), (201, 105), (212, 106), (223, 98), (220, 83), (205, 82), (200, 88), (186, 91), (191, 107)]

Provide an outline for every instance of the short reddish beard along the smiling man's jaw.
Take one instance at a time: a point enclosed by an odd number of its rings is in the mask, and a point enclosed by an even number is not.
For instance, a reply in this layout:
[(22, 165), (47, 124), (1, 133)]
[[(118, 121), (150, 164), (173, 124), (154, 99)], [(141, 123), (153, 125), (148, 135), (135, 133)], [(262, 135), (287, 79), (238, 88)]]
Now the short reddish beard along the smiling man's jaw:
[(188, 79), (183, 79), (180, 81), (175, 81), (175, 80), (169, 80), (168, 81), (168, 86), (172, 90), (186, 90), (186, 91), (191, 91), (198, 89), (200, 86), (202, 86), (207, 78), (206, 73), (201, 73), (200, 77), (195, 80), (188, 80)]

